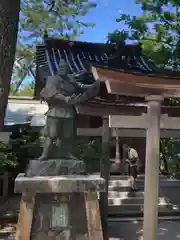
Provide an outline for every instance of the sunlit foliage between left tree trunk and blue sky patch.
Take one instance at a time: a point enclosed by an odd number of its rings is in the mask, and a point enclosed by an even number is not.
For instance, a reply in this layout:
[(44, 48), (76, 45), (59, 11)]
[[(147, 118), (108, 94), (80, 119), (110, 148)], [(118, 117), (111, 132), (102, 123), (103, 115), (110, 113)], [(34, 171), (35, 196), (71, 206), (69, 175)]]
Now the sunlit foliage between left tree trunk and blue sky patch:
[(74, 39), (83, 34), (83, 29), (93, 27), (82, 18), (89, 9), (96, 7), (87, 0), (22, 0), (19, 24), (16, 61), (13, 80), (14, 94), (25, 77), (35, 76), (35, 46), (43, 41), (44, 36)]

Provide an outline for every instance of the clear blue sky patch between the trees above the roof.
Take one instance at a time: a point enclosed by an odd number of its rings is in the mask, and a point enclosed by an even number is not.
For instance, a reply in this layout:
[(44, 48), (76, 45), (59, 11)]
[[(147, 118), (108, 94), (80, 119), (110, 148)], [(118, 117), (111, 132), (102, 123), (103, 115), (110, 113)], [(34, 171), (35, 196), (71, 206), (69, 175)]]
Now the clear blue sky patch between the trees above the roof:
[(121, 13), (141, 15), (140, 5), (135, 4), (135, 0), (97, 0), (96, 2), (97, 7), (91, 9), (82, 18), (84, 22), (96, 25), (85, 29), (84, 34), (79, 38), (81, 41), (105, 42), (108, 32), (125, 27), (122, 23), (115, 21)]

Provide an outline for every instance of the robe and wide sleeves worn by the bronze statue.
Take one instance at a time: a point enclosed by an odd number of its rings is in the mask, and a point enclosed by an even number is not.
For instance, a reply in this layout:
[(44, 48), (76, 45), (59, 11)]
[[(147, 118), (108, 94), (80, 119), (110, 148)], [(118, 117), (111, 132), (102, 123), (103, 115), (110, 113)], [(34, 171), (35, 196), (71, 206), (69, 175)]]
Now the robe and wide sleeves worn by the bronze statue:
[[(76, 109), (75, 104), (85, 102), (97, 94), (99, 84), (82, 84), (71, 76), (51, 76), (41, 91), (41, 97), (48, 104), (47, 121), (44, 136), (52, 141), (60, 141), (61, 149), (71, 152), (76, 136)], [(73, 94), (80, 96), (74, 104), (68, 104), (66, 97)], [(47, 141), (49, 141), (47, 139)], [(47, 143), (49, 147), (50, 142)], [(46, 148), (48, 148), (46, 146)], [(47, 155), (47, 154), (45, 154)]]

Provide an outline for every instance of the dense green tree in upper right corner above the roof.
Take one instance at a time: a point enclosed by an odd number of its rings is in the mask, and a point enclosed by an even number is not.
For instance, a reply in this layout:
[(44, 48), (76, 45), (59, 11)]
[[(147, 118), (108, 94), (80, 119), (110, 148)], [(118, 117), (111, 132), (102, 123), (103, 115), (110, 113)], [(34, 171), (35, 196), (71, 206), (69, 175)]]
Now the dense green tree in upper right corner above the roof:
[[(116, 30), (108, 35), (109, 41), (129, 39), (142, 43), (144, 53), (158, 67), (178, 70), (180, 65), (180, 1), (137, 0), (141, 16), (121, 14), (116, 22), (128, 26), (127, 31)], [(121, 36), (117, 38), (117, 36)]]

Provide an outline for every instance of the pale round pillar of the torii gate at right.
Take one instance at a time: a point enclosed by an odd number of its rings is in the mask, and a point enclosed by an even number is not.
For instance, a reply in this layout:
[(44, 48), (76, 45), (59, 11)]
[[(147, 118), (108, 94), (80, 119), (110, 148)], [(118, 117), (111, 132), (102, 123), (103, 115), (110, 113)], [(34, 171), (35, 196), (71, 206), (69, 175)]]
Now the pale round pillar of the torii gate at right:
[(144, 195), (145, 240), (155, 240), (158, 225), (159, 158), (160, 158), (160, 116), (162, 96), (148, 96), (146, 135), (146, 168)]

